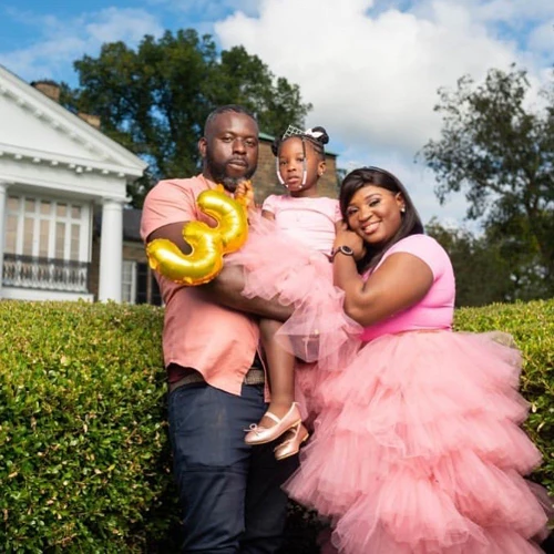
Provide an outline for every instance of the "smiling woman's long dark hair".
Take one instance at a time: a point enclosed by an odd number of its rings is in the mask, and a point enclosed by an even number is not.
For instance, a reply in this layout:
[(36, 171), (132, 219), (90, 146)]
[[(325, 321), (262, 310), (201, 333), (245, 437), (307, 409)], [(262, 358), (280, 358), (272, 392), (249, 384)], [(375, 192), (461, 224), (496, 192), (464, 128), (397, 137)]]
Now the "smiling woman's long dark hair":
[(413, 205), (408, 191), (400, 181), (389, 173), (388, 171), (381, 170), (380, 167), (360, 167), (350, 172), (340, 185), (340, 212), (342, 214), (342, 219), (348, 223), (347, 208), (352, 199), (352, 196), (367, 185), (375, 185), (379, 188), (386, 188), (393, 194), (400, 193), (404, 199), (406, 212), (402, 214), (402, 222), (400, 228), (397, 230), (394, 236), (387, 240), (382, 245), (371, 247), (366, 243), (367, 254), (358, 263), (358, 270), (360, 273), (366, 273), (369, 269), (373, 269), (384, 253), (394, 244), (397, 244), (402, 238), (410, 235), (421, 235), (424, 233), (423, 224), (419, 217), (418, 211)]

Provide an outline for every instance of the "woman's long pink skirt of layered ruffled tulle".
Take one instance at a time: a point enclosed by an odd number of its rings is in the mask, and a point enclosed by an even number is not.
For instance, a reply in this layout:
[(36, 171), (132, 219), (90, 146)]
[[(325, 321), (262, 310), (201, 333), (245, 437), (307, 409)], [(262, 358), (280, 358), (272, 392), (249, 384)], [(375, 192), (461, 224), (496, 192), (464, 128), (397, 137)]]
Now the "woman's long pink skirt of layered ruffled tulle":
[(345, 554), (541, 552), (543, 506), (522, 475), (520, 353), (490, 335), (383, 336), (318, 387), (297, 501), (330, 516)]

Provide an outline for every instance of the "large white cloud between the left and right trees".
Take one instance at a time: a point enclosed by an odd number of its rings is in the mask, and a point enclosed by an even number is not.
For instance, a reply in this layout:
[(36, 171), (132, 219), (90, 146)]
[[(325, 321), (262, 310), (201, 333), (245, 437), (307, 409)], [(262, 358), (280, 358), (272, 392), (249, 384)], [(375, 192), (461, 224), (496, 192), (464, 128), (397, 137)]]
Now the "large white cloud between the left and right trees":
[[(464, 74), (480, 80), (491, 68), (507, 69), (531, 55), (495, 25), (520, 17), (524, 2), (515, 3), (509, 12), (511, 2), (501, 0), (433, 0), (400, 11), (378, 0), (264, 0), (257, 17), (236, 12), (214, 29), (223, 48), (243, 44), (276, 75), (300, 85), (314, 104), (307, 123), (324, 125), (347, 145), (339, 165), (390, 168), (413, 183), (425, 219), (460, 219), (463, 197), (439, 207), (433, 175), (413, 157), (440, 131), (433, 112), (439, 88), (455, 86)], [(544, 2), (534, 13), (548, 10)]]

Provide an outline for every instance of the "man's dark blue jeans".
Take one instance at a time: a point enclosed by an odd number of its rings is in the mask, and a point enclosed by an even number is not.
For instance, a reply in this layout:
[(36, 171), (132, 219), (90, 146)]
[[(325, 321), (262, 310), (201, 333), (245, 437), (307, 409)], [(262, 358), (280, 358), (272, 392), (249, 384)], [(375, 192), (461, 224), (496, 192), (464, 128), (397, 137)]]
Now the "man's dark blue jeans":
[(179, 387), (170, 394), (183, 553), (278, 551), (287, 506), (280, 485), (298, 459), (277, 462), (275, 444), (244, 443), (244, 430), (259, 421), (266, 408), (263, 386), (243, 384), (240, 397), (206, 383)]

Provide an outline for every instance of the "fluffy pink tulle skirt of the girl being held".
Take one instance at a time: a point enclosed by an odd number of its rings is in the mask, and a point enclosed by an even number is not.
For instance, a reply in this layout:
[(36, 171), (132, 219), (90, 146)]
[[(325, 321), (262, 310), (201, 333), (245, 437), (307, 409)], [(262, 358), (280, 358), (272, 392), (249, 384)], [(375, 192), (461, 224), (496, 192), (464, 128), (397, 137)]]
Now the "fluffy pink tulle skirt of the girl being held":
[(245, 246), (226, 257), (242, 266), (246, 298), (277, 299), (295, 312), (277, 332), (283, 348), (318, 369), (336, 369), (350, 359), (362, 327), (345, 315), (345, 293), (332, 285), (328, 258), (295, 242), (274, 222), (253, 214)]

